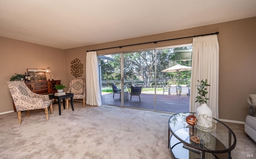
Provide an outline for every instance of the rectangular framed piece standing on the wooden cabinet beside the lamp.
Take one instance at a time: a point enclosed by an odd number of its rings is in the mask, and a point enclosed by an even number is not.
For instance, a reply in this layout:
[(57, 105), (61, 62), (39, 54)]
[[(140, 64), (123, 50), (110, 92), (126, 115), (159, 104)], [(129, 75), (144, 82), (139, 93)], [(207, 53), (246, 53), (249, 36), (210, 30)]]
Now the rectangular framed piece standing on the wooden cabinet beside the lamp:
[(47, 81), (46, 69), (28, 68), (30, 81)]

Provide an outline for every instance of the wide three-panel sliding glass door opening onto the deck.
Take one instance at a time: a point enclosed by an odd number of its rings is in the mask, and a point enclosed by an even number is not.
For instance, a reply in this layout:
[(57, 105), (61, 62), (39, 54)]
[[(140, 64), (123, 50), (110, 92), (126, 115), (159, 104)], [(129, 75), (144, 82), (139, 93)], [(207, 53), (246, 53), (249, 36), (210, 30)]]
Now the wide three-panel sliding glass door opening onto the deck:
[[(102, 104), (177, 113), (189, 111), (192, 46), (108, 55), (101, 59)], [(113, 85), (113, 87), (112, 87)], [(186, 91), (185, 91), (186, 90)]]

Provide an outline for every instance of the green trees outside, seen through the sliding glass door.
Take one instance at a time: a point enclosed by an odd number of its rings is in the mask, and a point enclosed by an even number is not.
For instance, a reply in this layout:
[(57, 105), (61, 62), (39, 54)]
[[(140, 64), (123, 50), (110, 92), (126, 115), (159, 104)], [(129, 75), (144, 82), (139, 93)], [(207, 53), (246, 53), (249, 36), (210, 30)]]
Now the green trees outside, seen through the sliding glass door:
[[(126, 53), (124, 55), (124, 79), (140, 79), (144, 81), (144, 87), (150, 87), (154, 78), (163, 79), (163, 84), (178, 84), (167, 82), (168, 79), (178, 79), (176, 72), (161, 72), (175, 64), (191, 66), (192, 46), (180, 48), (167, 48), (160, 50), (146, 50)], [(102, 80), (121, 79), (121, 54), (108, 56), (115, 61), (102, 59)], [(155, 70), (156, 66), (156, 70)], [(180, 79), (190, 79), (191, 71), (180, 72)], [(160, 83), (157, 83), (160, 84)], [(180, 80), (180, 84), (190, 84), (190, 81)]]

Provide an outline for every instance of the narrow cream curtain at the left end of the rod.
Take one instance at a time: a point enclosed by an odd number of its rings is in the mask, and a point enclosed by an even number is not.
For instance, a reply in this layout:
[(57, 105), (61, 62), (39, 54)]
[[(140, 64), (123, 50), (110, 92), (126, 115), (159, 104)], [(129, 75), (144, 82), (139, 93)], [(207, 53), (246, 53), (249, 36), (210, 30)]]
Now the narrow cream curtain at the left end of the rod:
[(86, 104), (101, 105), (99, 69), (96, 52), (86, 54)]

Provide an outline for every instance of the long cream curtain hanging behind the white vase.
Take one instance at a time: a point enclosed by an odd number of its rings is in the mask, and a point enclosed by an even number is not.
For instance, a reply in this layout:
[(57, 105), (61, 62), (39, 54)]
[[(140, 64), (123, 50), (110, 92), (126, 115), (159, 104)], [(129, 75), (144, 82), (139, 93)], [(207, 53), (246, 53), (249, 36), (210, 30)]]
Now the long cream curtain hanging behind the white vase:
[(190, 111), (196, 112), (200, 103), (195, 103), (198, 95), (196, 85), (198, 81), (207, 79), (211, 86), (207, 87), (208, 106), (212, 109), (213, 117), (218, 119), (219, 92), (219, 44), (217, 35), (193, 38)]

